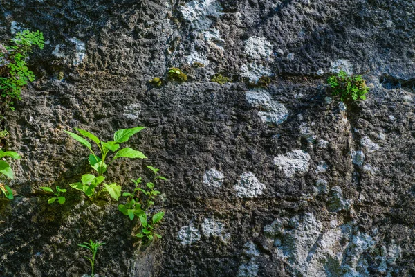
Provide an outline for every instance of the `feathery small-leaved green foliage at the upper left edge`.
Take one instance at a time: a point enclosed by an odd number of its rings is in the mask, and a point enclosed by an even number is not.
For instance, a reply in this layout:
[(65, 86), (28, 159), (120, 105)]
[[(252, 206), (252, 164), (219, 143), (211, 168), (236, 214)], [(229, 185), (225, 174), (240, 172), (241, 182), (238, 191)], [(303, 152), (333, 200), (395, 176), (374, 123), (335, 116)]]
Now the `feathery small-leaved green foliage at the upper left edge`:
[(28, 69), (26, 62), (34, 46), (44, 48), (44, 36), (39, 30), (23, 30), (16, 34), (11, 43), (11, 46), (3, 46), (3, 51), (0, 45), (0, 68), (7, 68), (1, 71), (0, 91), (3, 107), (14, 110), (13, 100), (20, 100), (21, 89), (35, 80), (35, 74)]

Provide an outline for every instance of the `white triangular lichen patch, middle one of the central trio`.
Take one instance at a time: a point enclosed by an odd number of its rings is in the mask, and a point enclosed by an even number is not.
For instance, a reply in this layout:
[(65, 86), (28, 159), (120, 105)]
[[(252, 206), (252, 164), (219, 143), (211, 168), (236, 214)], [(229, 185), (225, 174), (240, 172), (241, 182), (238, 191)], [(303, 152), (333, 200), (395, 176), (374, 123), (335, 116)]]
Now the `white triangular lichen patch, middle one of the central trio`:
[(261, 195), (266, 186), (252, 172), (244, 172), (234, 186), (237, 197), (252, 198)]

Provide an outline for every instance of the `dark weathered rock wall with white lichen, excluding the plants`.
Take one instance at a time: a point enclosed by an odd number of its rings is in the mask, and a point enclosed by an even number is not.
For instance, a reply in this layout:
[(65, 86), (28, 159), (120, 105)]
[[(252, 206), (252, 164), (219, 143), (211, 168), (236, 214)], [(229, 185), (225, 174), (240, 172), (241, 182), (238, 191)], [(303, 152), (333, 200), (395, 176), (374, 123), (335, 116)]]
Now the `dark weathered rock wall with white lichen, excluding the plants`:
[[(107, 243), (99, 276), (415, 276), (414, 22), (403, 0), (1, 1), (2, 42), (29, 28), (48, 44), (6, 122), (23, 158), (0, 276), (82, 276), (90, 238)], [(172, 66), (188, 81), (167, 82)], [(365, 102), (327, 95), (340, 70), (365, 75)], [(267, 88), (243, 82), (262, 75)], [(149, 159), (109, 173), (126, 189), (147, 165), (168, 177), (149, 247), (117, 203), (69, 189), (48, 205), (37, 190), (89, 172), (64, 129), (138, 125), (129, 145)]]

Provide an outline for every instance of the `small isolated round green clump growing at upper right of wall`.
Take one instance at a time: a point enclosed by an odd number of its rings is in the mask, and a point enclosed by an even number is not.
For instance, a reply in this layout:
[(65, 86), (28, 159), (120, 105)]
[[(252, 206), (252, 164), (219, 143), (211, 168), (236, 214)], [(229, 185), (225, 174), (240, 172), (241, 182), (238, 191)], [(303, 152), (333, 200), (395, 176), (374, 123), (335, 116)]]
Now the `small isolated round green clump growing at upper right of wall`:
[(347, 75), (346, 72), (340, 71), (338, 75), (330, 76), (327, 83), (331, 88), (333, 96), (340, 96), (343, 102), (353, 102), (356, 100), (365, 100), (369, 92), (362, 75)]

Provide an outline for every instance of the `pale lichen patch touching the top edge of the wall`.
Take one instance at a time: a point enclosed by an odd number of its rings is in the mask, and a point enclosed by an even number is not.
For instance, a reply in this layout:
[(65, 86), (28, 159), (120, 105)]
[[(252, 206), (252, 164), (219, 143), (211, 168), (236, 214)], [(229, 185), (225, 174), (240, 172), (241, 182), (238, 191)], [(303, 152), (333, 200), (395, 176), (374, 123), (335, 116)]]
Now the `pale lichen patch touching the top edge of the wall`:
[(206, 30), (212, 25), (211, 17), (221, 16), (222, 10), (217, 0), (193, 0), (181, 8), (181, 13), (194, 29)]

